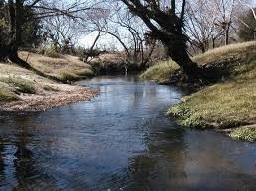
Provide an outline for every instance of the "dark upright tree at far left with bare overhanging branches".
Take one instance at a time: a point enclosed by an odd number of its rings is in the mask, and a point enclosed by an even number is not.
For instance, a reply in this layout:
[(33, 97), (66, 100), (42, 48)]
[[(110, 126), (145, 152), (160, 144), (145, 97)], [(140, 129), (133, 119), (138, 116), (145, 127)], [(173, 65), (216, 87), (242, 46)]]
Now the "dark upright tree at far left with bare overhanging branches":
[[(82, 18), (82, 13), (92, 9), (90, 1), (75, 1), (74, 3), (57, 2), (54, 0), (8, 0), (4, 1), (5, 14), (8, 20), (8, 40), (0, 45), (0, 59), (9, 59), (20, 66), (33, 69), (28, 63), (18, 56), (18, 49), (22, 44), (23, 25), (34, 19), (66, 15), (72, 19)], [(26, 12), (24, 10), (32, 10)], [(78, 14), (81, 13), (81, 14)], [(38, 73), (40, 73), (38, 71)], [(42, 74), (42, 73), (41, 73)], [(42, 74), (43, 75), (43, 74)]]

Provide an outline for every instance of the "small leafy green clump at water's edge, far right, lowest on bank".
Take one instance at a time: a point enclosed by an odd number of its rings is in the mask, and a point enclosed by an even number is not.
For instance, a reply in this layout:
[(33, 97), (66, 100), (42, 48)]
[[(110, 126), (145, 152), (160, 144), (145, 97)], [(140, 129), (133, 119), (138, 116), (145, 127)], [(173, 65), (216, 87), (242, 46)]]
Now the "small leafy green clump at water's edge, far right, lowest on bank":
[(237, 128), (229, 136), (238, 141), (254, 142), (256, 141), (256, 125)]

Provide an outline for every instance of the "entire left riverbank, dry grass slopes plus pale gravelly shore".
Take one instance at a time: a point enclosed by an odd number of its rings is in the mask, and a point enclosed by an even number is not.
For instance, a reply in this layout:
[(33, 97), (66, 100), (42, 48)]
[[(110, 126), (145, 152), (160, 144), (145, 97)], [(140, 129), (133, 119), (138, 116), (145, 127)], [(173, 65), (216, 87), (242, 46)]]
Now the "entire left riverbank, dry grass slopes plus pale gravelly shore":
[[(59, 58), (20, 52), (35, 69), (61, 81), (86, 79), (91, 66), (73, 56)], [(0, 111), (42, 111), (90, 100), (97, 90), (49, 80), (14, 64), (0, 63)]]

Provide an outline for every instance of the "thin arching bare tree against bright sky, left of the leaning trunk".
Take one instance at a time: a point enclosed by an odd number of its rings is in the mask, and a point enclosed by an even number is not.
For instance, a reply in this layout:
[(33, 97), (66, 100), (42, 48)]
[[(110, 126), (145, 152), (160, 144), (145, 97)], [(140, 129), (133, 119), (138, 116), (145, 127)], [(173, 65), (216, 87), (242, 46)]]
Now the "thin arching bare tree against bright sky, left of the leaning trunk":
[(130, 61), (144, 68), (154, 50), (154, 43), (149, 44), (145, 39), (148, 28), (124, 4), (117, 3), (114, 6), (109, 5), (108, 8), (111, 14), (105, 18), (103, 29), (118, 39)]

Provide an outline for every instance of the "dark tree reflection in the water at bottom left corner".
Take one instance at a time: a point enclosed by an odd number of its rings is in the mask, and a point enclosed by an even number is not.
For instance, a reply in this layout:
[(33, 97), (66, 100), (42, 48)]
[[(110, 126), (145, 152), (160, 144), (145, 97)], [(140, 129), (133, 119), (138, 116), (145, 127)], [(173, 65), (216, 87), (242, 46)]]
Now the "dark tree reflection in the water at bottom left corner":
[[(0, 123), (5, 124), (3, 129), (12, 132), (11, 124), (15, 123), (15, 133), (11, 136), (3, 132), (0, 136), (0, 189), (3, 190), (35, 190), (57, 188), (49, 177), (38, 168), (37, 158), (30, 146), (33, 145), (31, 134), (31, 118), (27, 114), (5, 114)], [(37, 113), (34, 113), (35, 117)], [(39, 182), (40, 181), (40, 182)], [(48, 182), (47, 182), (48, 181)], [(47, 182), (45, 184), (40, 184)]]

